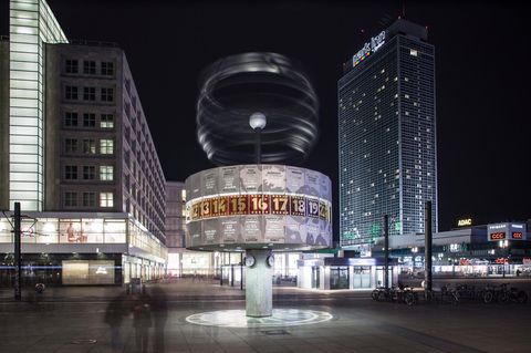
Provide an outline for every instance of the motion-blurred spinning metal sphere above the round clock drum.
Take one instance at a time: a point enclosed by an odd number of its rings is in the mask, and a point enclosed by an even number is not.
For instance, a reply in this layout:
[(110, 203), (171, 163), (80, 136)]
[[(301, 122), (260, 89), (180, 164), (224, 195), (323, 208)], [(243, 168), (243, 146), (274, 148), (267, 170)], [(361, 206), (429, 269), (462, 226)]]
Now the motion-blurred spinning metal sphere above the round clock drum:
[(261, 162), (299, 164), (316, 143), (317, 110), (313, 85), (294, 60), (267, 52), (231, 55), (202, 72), (197, 137), (216, 165), (253, 163), (256, 127), (249, 123), (259, 127), (267, 118)]

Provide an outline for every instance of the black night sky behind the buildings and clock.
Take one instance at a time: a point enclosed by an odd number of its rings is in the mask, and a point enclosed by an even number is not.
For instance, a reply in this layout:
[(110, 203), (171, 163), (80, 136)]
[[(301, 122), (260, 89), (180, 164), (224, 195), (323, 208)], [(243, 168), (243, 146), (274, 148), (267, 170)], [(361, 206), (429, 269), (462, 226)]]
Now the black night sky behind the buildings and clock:
[[(342, 63), (403, 11), (400, 1), (48, 2), (69, 39), (124, 49), (168, 180), (212, 166), (195, 132), (202, 68), (248, 51), (302, 61), (321, 102), (320, 141), (303, 166), (332, 178), (335, 200)], [(8, 1), (1, 7), (0, 34), (8, 34)], [(436, 46), (439, 230), (462, 217), (531, 218), (529, 10), (523, 2), (406, 1), (406, 19), (427, 25)]]

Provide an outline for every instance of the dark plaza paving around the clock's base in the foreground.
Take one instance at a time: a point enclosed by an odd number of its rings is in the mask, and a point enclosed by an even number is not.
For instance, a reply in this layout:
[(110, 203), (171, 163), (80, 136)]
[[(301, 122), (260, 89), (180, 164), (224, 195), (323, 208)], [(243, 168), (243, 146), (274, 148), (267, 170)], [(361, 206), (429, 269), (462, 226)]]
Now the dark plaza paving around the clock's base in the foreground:
[[(281, 288), (275, 289), (275, 308), (324, 311), (333, 319), (300, 326), (217, 328), (191, 324), (186, 318), (243, 309), (239, 289), (191, 280), (158, 288), (163, 292), (148, 285), (153, 303), (166, 298), (166, 305), (153, 309), (152, 319), (139, 329), (138, 316), (126, 312), (114, 351), (107, 318), (121, 289), (53, 289), (40, 300), (25, 293), (31, 300), (21, 303), (3, 297), (3, 291), (0, 352), (142, 352), (137, 350), (139, 336), (147, 339), (146, 352), (529, 352), (531, 347), (529, 303), (409, 308), (374, 302), (367, 292)], [(134, 299), (121, 301), (128, 309), (137, 308)]]

